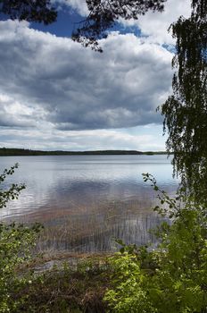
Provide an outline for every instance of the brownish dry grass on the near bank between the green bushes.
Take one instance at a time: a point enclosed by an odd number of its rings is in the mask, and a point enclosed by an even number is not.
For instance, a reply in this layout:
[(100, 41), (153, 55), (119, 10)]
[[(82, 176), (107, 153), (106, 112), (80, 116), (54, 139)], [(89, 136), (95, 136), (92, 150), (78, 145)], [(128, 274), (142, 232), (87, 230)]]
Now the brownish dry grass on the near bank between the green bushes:
[(17, 312), (104, 313), (105, 289), (109, 286), (110, 268), (107, 258), (82, 258), (74, 269), (68, 262), (54, 266), (13, 297), (25, 299)]

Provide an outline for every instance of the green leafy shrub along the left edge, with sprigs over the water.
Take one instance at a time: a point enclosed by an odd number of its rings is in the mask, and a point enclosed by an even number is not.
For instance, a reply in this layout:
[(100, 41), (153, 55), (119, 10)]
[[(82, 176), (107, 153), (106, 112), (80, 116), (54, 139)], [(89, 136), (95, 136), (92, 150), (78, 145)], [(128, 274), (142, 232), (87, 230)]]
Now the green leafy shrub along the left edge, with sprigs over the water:
[[(0, 175), (0, 183), (11, 175), (18, 165), (4, 170)], [(1, 186), (1, 185), (0, 185)], [(12, 184), (5, 190), (0, 188), (0, 207), (5, 207), (11, 199), (17, 199), (24, 185)], [(21, 289), (26, 283), (32, 282), (32, 275), (18, 273), (18, 266), (29, 260), (30, 252), (35, 244), (41, 226), (31, 227), (22, 224), (0, 224), (0, 312), (15, 312), (24, 301)]]

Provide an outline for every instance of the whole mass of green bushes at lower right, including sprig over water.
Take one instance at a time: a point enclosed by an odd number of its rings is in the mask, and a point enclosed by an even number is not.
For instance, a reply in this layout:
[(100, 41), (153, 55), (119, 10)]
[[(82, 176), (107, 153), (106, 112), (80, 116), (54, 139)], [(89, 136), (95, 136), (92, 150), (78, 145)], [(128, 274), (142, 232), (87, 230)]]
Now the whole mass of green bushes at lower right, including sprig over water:
[(156, 229), (161, 241), (156, 250), (123, 245), (122, 253), (111, 258), (112, 288), (104, 300), (119, 313), (206, 313), (206, 207), (185, 200), (183, 194), (177, 201), (170, 199), (148, 178), (160, 191), (163, 206), (155, 209), (172, 216), (172, 222)]

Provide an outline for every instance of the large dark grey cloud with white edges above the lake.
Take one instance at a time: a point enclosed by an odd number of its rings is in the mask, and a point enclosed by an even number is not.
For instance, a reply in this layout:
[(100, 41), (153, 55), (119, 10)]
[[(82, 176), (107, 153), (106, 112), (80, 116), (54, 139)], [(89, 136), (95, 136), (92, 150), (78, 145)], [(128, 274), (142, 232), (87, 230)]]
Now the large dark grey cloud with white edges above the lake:
[(164, 48), (114, 33), (100, 55), (16, 21), (0, 22), (0, 42), (0, 92), (10, 98), (2, 100), (2, 126), (50, 123), (65, 131), (161, 123), (155, 108), (171, 80)]

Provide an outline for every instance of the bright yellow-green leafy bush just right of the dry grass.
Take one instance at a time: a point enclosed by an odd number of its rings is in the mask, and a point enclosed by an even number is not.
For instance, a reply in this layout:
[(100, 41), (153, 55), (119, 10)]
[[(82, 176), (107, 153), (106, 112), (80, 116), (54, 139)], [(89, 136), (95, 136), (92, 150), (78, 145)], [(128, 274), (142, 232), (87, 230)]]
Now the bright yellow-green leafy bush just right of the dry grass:
[(156, 312), (144, 288), (145, 273), (140, 269), (136, 256), (128, 252), (118, 253), (110, 262), (113, 288), (105, 293), (104, 300), (112, 312)]

